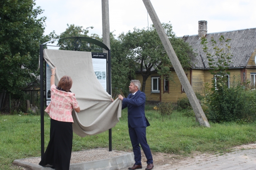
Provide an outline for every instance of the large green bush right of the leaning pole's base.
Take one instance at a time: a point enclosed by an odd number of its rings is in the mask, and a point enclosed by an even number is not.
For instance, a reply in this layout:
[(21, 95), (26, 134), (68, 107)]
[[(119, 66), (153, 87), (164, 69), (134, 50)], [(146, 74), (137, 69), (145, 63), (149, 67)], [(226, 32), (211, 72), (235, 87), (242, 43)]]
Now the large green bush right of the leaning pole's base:
[(256, 120), (256, 92), (241, 85), (223, 87), (208, 95), (206, 117), (214, 123), (246, 123)]

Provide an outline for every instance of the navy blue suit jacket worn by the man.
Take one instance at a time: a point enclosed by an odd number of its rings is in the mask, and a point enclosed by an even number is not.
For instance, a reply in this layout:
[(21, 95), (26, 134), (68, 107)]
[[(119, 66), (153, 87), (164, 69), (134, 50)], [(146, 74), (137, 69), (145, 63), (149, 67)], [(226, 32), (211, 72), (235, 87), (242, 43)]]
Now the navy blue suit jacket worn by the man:
[(122, 109), (128, 107), (128, 127), (147, 127), (150, 126), (145, 117), (145, 93), (138, 90), (132, 97), (132, 94), (123, 99)]

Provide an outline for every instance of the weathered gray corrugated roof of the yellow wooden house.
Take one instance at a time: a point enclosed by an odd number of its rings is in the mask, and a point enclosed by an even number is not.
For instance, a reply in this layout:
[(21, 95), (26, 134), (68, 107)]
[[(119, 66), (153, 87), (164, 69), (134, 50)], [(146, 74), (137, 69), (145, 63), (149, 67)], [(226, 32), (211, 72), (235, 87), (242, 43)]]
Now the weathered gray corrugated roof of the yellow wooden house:
[[(232, 59), (230, 63), (230, 68), (236, 67), (246, 67), (248, 61), (256, 48), (256, 28), (235, 30), (227, 32), (216, 32), (209, 33), (206, 35), (208, 41), (208, 49), (211, 53), (214, 52), (212, 49), (211, 37), (217, 42), (217, 46), (220, 44), (218, 39), (223, 35), (225, 39), (231, 39), (231, 54)], [(196, 59), (194, 60), (194, 68), (197, 69), (208, 69), (208, 59), (206, 58), (206, 53), (202, 50), (201, 40), (198, 39), (198, 35), (183, 36), (185, 42), (188, 42), (194, 51), (198, 53)], [(201, 54), (201, 55), (200, 55)]]

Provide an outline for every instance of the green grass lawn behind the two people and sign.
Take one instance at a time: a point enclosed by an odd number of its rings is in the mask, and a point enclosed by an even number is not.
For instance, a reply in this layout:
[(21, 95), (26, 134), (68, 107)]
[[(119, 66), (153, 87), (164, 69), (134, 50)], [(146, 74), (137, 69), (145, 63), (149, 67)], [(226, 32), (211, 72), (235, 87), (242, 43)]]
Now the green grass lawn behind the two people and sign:
[[(227, 152), (229, 148), (256, 141), (256, 123), (210, 123), (211, 128), (201, 127), (194, 118), (182, 117), (174, 111), (161, 116), (152, 108), (146, 108), (151, 126), (147, 128), (147, 140), (152, 152), (190, 154), (200, 152)], [(44, 118), (45, 148), (49, 141), (50, 119)], [(92, 148), (108, 148), (108, 131), (81, 138), (74, 134), (72, 151)], [(112, 149), (132, 150), (127, 125), (127, 109), (112, 128)], [(18, 170), (12, 166), (15, 159), (40, 156), (40, 116), (0, 115), (0, 169)]]

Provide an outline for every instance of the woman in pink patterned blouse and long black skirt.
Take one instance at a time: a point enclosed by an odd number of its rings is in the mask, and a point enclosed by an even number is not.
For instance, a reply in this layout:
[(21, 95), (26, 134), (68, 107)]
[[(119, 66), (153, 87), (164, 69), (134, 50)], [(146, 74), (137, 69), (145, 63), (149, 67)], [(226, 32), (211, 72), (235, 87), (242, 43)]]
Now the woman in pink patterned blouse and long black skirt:
[(80, 107), (76, 101), (75, 94), (70, 91), (72, 79), (63, 76), (58, 87), (55, 86), (55, 69), (52, 69), (51, 103), (45, 109), (51, 118), (50, 141), (39, 165), (49, 166), (56, 170), (69, 170), (73, 129), (72, 110), (78, 113)]

